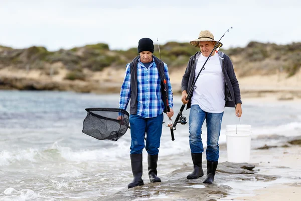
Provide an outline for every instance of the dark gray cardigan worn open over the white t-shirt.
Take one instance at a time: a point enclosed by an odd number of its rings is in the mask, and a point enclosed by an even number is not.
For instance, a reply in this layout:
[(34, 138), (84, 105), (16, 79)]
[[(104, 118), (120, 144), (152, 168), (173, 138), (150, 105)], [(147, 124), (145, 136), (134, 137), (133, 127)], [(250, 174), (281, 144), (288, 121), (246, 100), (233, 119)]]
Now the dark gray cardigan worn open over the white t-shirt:
[[(189, 90), (191, 89), (194, 81), (196, 64), (198, 63), (198, 59), (200, 55), (201, 52), (197, 52), (195, 55), (190, 57), (187, 68), (182, 78), (182, 91), (186, 90), (187, 93), (189, 93)], [(235, 108), (236, 104), (241, 104), (241, 99), (240, 99), (239, 84), (236, 79), (233, 64), (230, 58), (223, 52), (218, 52), (218, 55), (220, 57), (220, 63), (222, 66), (222, 71), (225, 80), (225, 100), (226, 100), (225, 107)], [(206, 68), (206, 65), (204, 67)], [(191, 106), (191, 98), (189, 99), (186, 109), (189, 109), (190, 106)]]

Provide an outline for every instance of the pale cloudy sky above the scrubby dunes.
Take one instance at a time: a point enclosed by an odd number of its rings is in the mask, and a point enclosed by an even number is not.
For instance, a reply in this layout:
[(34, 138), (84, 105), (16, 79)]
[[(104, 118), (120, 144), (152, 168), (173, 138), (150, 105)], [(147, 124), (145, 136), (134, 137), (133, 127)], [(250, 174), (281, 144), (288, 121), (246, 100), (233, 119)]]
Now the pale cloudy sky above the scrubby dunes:
[[(223, 48), (250, 41), (301, 42), (301, 1), (0, 0), (0, 45), (49, 51), (106, 43), (110, 49), (189, 42), (209, 30)], [(158, 38), (158, 42), (157, 42)]]

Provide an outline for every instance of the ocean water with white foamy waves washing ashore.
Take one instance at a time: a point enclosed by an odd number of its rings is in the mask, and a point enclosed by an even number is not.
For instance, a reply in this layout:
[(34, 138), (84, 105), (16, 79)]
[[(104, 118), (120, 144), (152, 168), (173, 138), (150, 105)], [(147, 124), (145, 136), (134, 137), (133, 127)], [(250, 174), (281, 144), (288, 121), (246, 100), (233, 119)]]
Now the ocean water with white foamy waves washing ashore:
[[(118, 94), (0, 90), (0, 200), (96, 200), (127, 189), (132, 180), (129, 129), (117, 142), (81, 132), (85, 108), (117, 108), (118, 101)], [(174, 118), (181, 105), (181, 97), (174, 96)], [(242, 109), (240, 123), (252, 126), (252, 138), (301, 135), (301, 106), (246, 102)], [(239, 124), (234, 112), (225, 110), (220, 144), (226, 142), (225, 126)], [(188, 118), (189, 110), (184, 114)], [(205, 125), (203, 133), (205, 145)], [(158, 167), (162, 179), (191, 164), (188, 135), (188, 124), (178, 124), (172, 141), (164, 126)], [(143, 150), (144, 183), (146, 157)]]

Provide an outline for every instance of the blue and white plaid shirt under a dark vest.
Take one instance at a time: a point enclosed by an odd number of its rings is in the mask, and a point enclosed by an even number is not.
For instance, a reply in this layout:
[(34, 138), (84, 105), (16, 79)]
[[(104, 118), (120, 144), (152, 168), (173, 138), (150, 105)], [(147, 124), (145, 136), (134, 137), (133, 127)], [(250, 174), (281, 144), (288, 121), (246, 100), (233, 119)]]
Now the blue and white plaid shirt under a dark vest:
[[(121, 86), (119, 108), (126, 109), (130, 98), (130, 64), (126, 65), (124, 81)], [(168, 68), (164, 63), (166, 81), (169, 87), (169, 106), (173, 107), (173, 91), (169, 78)], [(153, 59), (148, 69), (138, 59), (137, 63), (137, 115), (144, 118), (158, 117), (164, 111), (161, 94), (161, 77)]]

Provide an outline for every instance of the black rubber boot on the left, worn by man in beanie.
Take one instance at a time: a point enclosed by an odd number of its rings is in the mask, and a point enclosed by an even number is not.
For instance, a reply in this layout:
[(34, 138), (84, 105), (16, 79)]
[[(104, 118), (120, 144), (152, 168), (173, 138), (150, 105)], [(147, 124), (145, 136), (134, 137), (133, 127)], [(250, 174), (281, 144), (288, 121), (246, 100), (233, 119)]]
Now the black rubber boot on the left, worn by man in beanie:
[(133, 181), (127, 185), (127, 188), (132, 188), (137, 185), (143, 185), (142, 180), (142, 154), (130, 154), (130, 163), (133, 172)]

